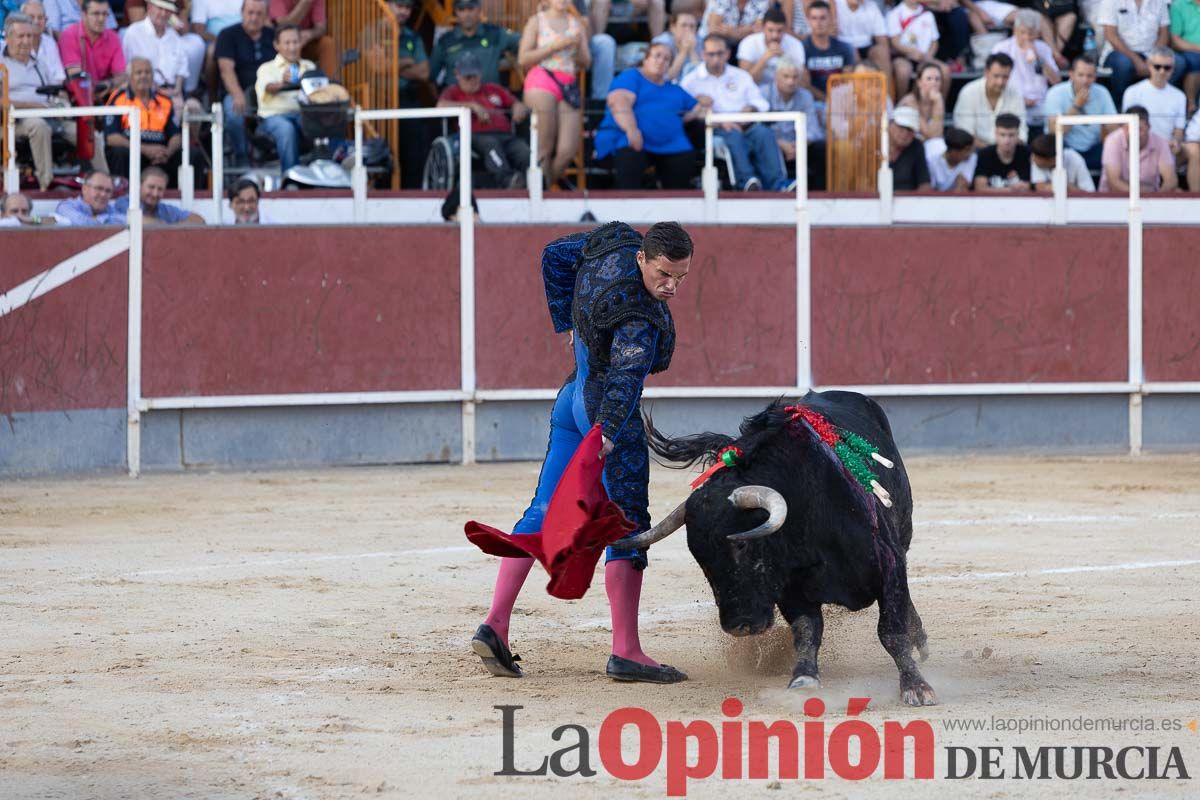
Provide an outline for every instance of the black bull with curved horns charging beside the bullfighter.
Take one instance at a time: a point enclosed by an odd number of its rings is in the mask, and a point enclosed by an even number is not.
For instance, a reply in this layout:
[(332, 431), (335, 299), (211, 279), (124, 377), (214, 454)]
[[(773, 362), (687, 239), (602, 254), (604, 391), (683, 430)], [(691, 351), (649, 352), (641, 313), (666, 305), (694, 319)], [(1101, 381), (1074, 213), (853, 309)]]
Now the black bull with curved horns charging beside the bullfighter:
[(912, 656), (917, 650), (924, 661), (929, 651), (908, 595), (912, 488), (892, 427), (875, 401), (854, 392), (809, 392), (802, 405), (872, 443), (892, 462), (888, 469), (868, 459), (890, 507), (862, 491), (812, 428), (797, 427), (803, 423), (782, 402), (748, 417), (736, 439), (719, 433), (670, 439), (647, 420), (650, 447), (668, 461), (712, 463), (731, 445), (742, 455), (636, 543), (686, 524), (688, 547), (727, 633), (762, 633), (779, 608), (796, 643), (790, 688), (821, 685), (822, 604), (860, 610), (877, 602), (880, 642), (900, 670), (901, 699), (932, 705), (937, 697)]

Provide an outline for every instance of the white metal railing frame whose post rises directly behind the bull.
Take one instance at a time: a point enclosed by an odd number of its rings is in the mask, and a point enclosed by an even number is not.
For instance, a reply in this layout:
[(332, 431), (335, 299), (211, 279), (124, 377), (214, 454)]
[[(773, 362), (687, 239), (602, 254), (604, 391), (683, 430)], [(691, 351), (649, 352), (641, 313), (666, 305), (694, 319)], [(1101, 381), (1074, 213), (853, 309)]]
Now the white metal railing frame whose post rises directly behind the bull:
[(798, 386), (806, 386), (812, 381), (812, 351), (809, 349), (812, 341), (812, 264), (806, 118), (803, 112), (709, 113), (704, 116), (704, 172), (701, 181), (708, 219), (716, 217), (718, 175), (713, 163), (713, 126), (725, 122), (791, 122), (796, 131), (796, 380)]

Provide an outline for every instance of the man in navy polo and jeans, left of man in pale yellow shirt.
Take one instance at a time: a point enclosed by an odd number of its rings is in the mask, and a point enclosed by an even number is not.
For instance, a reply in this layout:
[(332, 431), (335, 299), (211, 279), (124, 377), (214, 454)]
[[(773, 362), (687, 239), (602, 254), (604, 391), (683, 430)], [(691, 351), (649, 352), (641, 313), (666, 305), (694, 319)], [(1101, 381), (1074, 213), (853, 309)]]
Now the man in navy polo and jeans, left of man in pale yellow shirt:
[(217, 36), (217, 68), (224, 97), (226, 134), (233, 146), (233, 164), (246, 163), (246, 114), (252, 109), (258, 67), (275, 58), (275, 31), (266, 26), (266, 0), (242, 0), (241, 24)]

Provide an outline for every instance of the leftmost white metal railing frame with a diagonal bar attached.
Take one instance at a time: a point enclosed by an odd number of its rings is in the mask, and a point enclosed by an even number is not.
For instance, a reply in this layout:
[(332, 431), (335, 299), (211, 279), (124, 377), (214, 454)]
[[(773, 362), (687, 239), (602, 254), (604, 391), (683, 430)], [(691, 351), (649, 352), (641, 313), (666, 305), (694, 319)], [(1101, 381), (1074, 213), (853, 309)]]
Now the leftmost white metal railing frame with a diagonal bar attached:
[[(107, 116), (113, 113), (110, 106), (84, 106), (80, 108), (13, 108), (8, 107), (8, 125), (5, 136), (8, 145), (8, 163), (5, 166), (5, 186), (17, 191), (20, 186), (17, 173), (17, 120), (30, 119), (77, 119), (82, 116)], [(34, 281), (41, 282), (53, 275), (67, 273), (66, 279), (60, 281), (61, 285), (67, 281), (83, 275), (84, 272), (100, 266), (113, 255), (118, 255), (128, 247), (130, 252), (130, 279), (128, 279), (128, 331), (126, 341), (126, 439), (125, 457), (130, 468), (130, 475), (137, 476), (142, 470), (142, 148), (137, 146), (142, 142), (142, 109), (136, 106), (121, 109), (122, 116), (130, 118), (130, 211), (126, 216), (128, 228), (127, 242), (118, 241), (114, 236), (109, 240), (113, 247), (103, 248), (94, 246), (91, 255), (86, 263), (79, 258), (67, 259), (64, 264), (36, 276)], [(104, 242), (101, 242), (104, 245)], [(114, 252), (115, 248), (115, 252)], [(86, 251), (85, 251), (86, 252)], [(98, 260), (97, 260), (98, 259)], [(70, 265), (68, 269), (61, 269)], [(26, 282), (28, 283), (28, 282)], [(23, 284), (24, 285), (24, 284)], [(47, 289), (48, 291), (49, 289)], [(11, 293), (10, 293), (11, 294)], [(40, 296), (36, 290), (31, 290), (20, 302), (8, 303), (8, 311), (14, 311)]]

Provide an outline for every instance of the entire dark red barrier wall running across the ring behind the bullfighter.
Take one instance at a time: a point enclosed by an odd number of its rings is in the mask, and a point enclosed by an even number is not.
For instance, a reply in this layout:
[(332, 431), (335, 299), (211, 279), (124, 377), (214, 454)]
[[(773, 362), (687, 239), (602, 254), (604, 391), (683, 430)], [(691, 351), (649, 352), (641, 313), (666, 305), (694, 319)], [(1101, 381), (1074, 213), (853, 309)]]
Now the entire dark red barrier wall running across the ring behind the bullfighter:
[[(557, 386), (541, 247), (578, 227), (476, 230), (478, 383)], [(694, 225), (658, 385), (794, 380), (794, 234)], [(0, 289), (114, 233), (0, 231)], [(820, 384), (1123, 380), (1123, 228), (817, 228)], [(1146, 374), (1200, 380), (1200, 229), (1145, 237)], [(125, 405), (126, 260), (0, 317), (0, 413)], [(151, 397), (458, 387), (451, 225), (148, 230)]]

